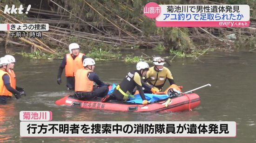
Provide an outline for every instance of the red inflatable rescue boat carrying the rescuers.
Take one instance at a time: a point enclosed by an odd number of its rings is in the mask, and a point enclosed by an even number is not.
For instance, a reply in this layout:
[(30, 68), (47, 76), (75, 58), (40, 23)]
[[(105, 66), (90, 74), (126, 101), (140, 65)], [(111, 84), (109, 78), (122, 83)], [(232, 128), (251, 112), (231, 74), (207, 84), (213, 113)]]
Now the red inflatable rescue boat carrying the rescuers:
[(69, 95), (63, 97), (62, 99), (56, 100), (55, 104), (59, 106), (67, 105), (80, 108), (121, 112), (180, 112), (189, 111), (199, 106), (200, 97), (195, 93), (191, 93), (177, 96), (172, 99), (163, 99), (148, 105), (142, 105), (116, 100), (110, 100), (108, 102), (102, 103), (101, 98), (83, 101), (75, 99), (73, 96)]

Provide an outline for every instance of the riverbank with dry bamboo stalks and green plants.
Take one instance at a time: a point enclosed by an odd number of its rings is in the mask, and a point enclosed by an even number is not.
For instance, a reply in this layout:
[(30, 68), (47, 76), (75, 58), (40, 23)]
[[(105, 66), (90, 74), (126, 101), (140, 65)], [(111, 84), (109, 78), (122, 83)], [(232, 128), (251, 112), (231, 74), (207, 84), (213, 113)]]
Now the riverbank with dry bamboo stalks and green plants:
[[(158, 4), (248, 4), (250, 26), (156, 27), (154, 19), (142, 14), (142, 6)], [(4, 14), (5, 5), (31, 4), (26, 14)], [(97, 60), (137, 61), (142, 56), (121, 56), (122, 48), (168, 51), (175, 56), (198, 56), (211, 50), (256, 49), (256, 3), (254, 0), (1, 0), (1, 23), (48, 23), (42, 38), (12, 38), (0, 32), (6, 52), (12, 44), (31, 47), (32, 58), (59, 58), (68, 44), (78, 43), (81, 51)], [(24, 47), (24, 46), (23, 46)]]

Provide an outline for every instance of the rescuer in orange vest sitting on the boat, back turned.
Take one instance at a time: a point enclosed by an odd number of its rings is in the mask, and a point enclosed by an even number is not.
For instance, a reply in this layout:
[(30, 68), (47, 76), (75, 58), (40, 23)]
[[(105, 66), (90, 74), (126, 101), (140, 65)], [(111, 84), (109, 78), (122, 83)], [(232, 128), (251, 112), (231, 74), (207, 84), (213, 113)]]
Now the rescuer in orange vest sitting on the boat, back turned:
[[(83, 61), (84, 68), (78, 69), (75, 74), (75, 97), (80, 100), (104, 97), (108, 94), (108, 86), (105, 85), (94, 73), (95, 62), (92, 58)], [(99, 87), (94, 87), (94, 82)]]

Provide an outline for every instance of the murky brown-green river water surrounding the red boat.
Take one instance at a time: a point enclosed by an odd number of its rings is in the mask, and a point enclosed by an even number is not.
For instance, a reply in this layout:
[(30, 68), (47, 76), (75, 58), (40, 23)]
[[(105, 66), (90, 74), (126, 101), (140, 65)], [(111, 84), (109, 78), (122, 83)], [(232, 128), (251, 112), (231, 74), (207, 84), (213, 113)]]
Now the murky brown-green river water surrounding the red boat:
[[(152, 53), (152, 51), (143, 51)], [(0, 56), (4, 52), (0, 51)], [(195, 58), (175, 58), (170, 70), (183, 92), (210, 83), (197, 90), (201, 104), (193, 111), (164, 113), (106, 112), (67, 106), (54, 101), (67, 93), (64, 73), (56, 83), (61, 60), (29, 59), (15, 56), (17, 85), (27, 96), (10, 99), (0, 105), (0, 142), (12, 143), (256, 143), (256, 54), (249, 52), (210, 52)], [(150, 65), (152, 65), (150, 63)], [(95, 72), (102, 81), (118, 83), (135, 64), (120, 61), (96, 62)], [(168, 82), (167, 82), (168, 83)], [(165, 85), (167, 87), (168, 84)], [(236, 137), (20, 137), (20, 111), (52, 111), (53, 121), (235, 121)]]

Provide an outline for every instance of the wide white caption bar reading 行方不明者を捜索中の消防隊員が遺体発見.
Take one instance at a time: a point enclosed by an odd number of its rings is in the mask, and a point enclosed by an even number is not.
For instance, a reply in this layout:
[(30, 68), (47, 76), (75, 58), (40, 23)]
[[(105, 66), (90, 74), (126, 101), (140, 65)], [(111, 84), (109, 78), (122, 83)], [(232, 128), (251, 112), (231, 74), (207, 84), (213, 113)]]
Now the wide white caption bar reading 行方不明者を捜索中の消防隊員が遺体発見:
[(236, 137), (236, 122), (20, 122), (20, 137)]

